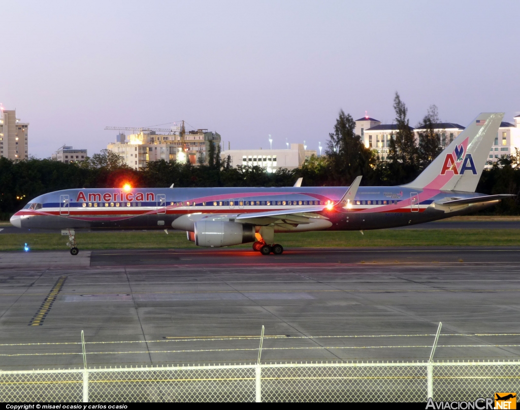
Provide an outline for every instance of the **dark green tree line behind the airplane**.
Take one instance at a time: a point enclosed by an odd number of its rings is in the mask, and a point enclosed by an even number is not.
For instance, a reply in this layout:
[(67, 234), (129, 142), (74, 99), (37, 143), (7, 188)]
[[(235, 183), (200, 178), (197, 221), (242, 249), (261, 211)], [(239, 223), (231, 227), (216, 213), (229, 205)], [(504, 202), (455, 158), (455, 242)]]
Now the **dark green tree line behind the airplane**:
[[(419, 140), (409, 126), (408, 108), (396, 92), (394, 98), (395, 133), (389, 138), (387, 161), (365, 147), (355, 133), (355, 121), (340, 111), (329, 134), (325, 155), (313, 156), (300, 168), (280, 168), (267, 173), (259, 166), (232, 167), (230, 158), (220, 158), (218, 146), (210, 146), (208, 163), (164, 160), (149, 162), (146, 169), (126, 166), (119, 155), (102, 150), (84, 162), (66, 164), (58, 161), (29, 160), (14, 162), (0, 158), (0, 219), (21, 209), (30, 199), (51, 191), (73, 188), (112, 188), (130, 183), (133, 187), (290, 187), (303, 177), (303, 186), (348, 186), (362, 175), (365, 186), (391, 186), (411, 182), (440, 153), (439, 122), (432, 105), (421, 121)], [(511, 193), (520, 190), (520, 153), (500, 158), (483, 171), (477, 192)], [(491, 212), (518, 215), (515, 199), (504, 200)]]

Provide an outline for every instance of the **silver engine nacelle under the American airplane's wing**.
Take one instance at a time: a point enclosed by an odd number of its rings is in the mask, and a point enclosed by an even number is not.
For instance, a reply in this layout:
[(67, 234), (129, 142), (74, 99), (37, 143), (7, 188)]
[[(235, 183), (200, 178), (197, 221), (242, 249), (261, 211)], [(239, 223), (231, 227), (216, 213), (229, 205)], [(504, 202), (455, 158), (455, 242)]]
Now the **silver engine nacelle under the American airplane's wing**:
[(240, 245), (256, 241), (255, 227), (228, 221), (195, 222), (195, 244), (215, 247)]

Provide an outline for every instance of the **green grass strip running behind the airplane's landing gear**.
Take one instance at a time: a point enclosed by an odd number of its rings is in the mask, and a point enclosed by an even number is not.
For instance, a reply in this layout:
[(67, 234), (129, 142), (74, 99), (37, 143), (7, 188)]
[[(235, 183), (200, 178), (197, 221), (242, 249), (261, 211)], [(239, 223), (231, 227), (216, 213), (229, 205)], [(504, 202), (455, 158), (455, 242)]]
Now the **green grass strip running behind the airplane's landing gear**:
[[(327, 231), (277, 233), (284, 247), (329, 246), (518, 246), (517, 229), (406, 229), (365, 231)], [(59, 233), (1, 234), (0, 251), (22, 250), (25, 243), (34, 250), (66, 249), (68, 238)], [(184, 232), (121, 231), (77, 232), (80, 249), (194, 248)], [(250, 247), (251, 244), (238, 245)]]

